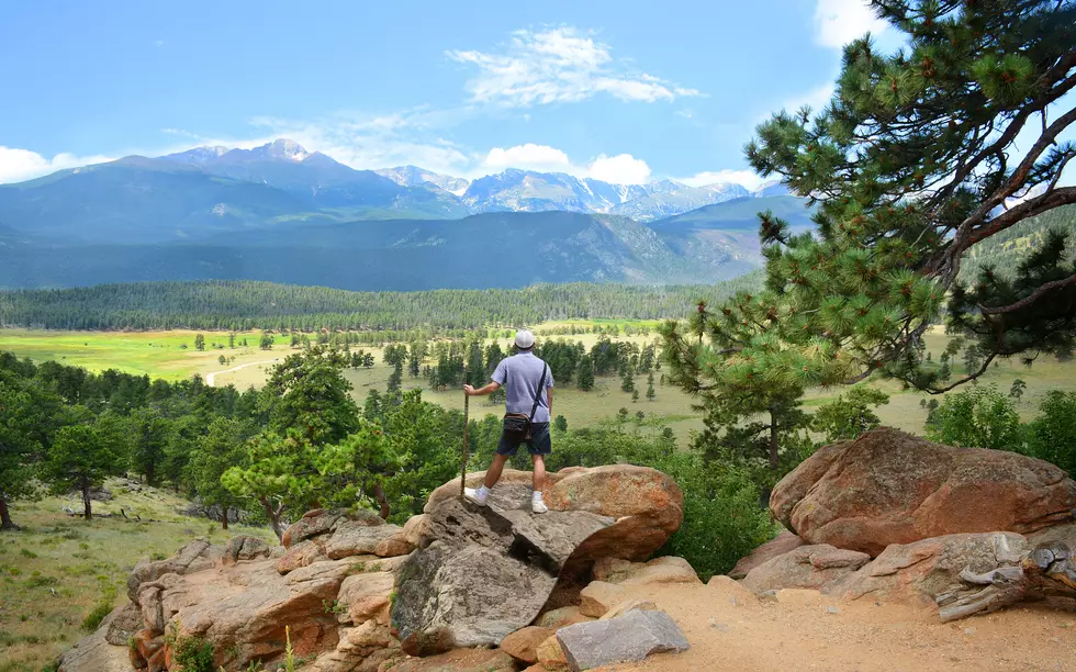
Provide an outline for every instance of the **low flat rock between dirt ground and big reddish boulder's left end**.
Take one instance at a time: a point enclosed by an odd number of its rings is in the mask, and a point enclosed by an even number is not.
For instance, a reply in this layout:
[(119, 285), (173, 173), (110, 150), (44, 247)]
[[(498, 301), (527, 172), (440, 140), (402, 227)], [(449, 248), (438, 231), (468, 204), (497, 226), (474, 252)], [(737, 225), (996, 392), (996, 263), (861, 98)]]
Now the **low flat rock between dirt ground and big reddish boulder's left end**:
[(755, 593), (782, 589), (827, 592), (870, 561), (866, 553), (826, 544), (800, 546), (752, 569), (743, 585)]

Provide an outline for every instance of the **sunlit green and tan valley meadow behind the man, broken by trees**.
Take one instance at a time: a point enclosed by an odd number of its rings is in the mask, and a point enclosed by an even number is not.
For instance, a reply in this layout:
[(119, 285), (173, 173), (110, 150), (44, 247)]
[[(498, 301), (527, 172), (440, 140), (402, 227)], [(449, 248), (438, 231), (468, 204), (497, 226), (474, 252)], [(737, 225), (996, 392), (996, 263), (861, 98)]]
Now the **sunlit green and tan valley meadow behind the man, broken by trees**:
[[(575, 336), (549, 334), (554, 329), (570, 327), (573, 324), (576, 326), (601, 324), (605, 327), (616, 325), (621, 331), (627, 326), (653, 328), (658, 325), (654, 321), (554, 322), (539, 325), (535, 331), (539, 338), (581, 340), (587, 348), (594, 345), (598, 338), (596, 334)], [(251, 344), (248, 347), (213, 349), (213, 343), (226, 346), (227, 334), (206, 332), (206, 350), (199, 352), (193, 349), (194, 335), (195, 333), (190, 331), (108, 333), (0, 329), (0, 350), (12, 350), (20, 356), (31, 357), (35, 360), (55, 359), (69, 365), (85, 366), (91, 370), (117, 368), (123, 371), (146, 373), (150, 377), (161, 377), (169, 380), (199, 373), (212, 378), (217, 385), (234, 384), (239, 389), (251, 385), (260, 387), (276, 360), (292, 351), (287, 345), (290, 337), (283, 335), (276, 337), (277, 345), (272, 350), (258, 349), (254, 344), (260, 340), (261, 335), (257, 332), (237, 335), (239, 343), (246, 338)], [(619, 340), (629, 340), (641, 345), (650, 343), (654, 338), (655, 335), (651, 333), (646, 336), (620, 336)], [(509, 345), (507, 338), (501, 338), (500, 341), (502, 348), (506, 349)], [(940, 332), (927, 335), (927, 347), (933, 354), (935, 361), (944, 349), (945, 343), (946, 338)], [(183, 345), (187, 345), (186, 349), (182, 348)], [(379, 348), (366, 347), (365, 349), (372, 351), (377, 358), (373, 368), (347, 372), (347, 377), (355, 388), (354, 394), (360, 402), (366, 397), (369, 390), (383, 390), (391, 373), (390, 367), (381, 361)], [(222, 366), (217, 361), (221, 355), (235, 357), (235, 360)], [(956, 366), (954, 377), (961, 373), (962, 367)], [(660, 373), (655, 376), (659, 381), (660, 378)], [(1020, 365), (1018, 360), (1000, 361), (997, 367), (991, 367), (983, 376), (979, 384), (993, 383), (1002, 391), (1008, 391), (1017, 378), (1022, 378), (1028, 383), (1027, 392), (1018, 404), (1018, 408), (1024, 419), (1029, 419), (1034, 416), (1038, 402), (1046, 391), (1053, 389), (1076, 390), (1076, 361), (1057, 362), (1052, 359), (1043, 359), (1030, 369)], [(897, 383), (892, 381), (868, 381), (864, 384), (879, 388), (890, 394), (889, 404), (878, 410), (878, 415), (885, 424), (907, 432), (922, 432), (927, 414), (919, 404), (929, 395), (901, 390)], [(463, 407), (463, 396), (460, 391), (430, 391), (425, 389), (425, 381), (412, 379), (406, 374), (404, 376), (404, 387), (424, 389), (426, 399), (445, 407), (460, 410)], [(568, 418), (570, 427), (587, 427), (615, 415), (621, 407), (627, 408), (632, 416), (642, 411), (648, 418), (672, 427), (682, 444), (686, 441), (692, 430), (702, 428), (702, 418), (692, 410), (693, 400), (680, 390), (669, 385), (659, 385), (657, 387), (657, 399), (650, 402), (646, 400), (647, 381), (645, 376), (636, 378), (636, 388), (640, 394), (640, 400), (636, 403), (631, 402), (630, 394), (620, 391), (620, 380), (616, 377), (596, 379), (595, 388), (591, 392), (581, 392), (569, 388), (559, 389), (554, 392), (553, 412)], [(839, 388), (811, 390), (806, 395), (805, 406), (809, 411), (836, 397), (841, 392), (842, 389)], [(474, 403), (471, 404), (471, 413), (472, 415), (500, 414), (501, 407), (489, 404), (486, 400), (474, 400)]]

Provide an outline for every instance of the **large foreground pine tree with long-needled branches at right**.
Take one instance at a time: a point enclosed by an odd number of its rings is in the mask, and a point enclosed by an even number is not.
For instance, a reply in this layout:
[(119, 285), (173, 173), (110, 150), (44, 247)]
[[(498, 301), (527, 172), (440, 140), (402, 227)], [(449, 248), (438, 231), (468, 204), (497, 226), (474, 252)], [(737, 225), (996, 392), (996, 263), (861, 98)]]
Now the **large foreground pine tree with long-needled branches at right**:
[[(973, 247), (1076, 203), (1058, 186), (1076, 144), (1062, 100), (1076, 85), (1071, 2), (875, 0), (906, 46), (844, 49), (830, 103), (781, 112), (746, 153), (817, 202), (817, 234), (760, 214), (766, 283), (666, 327), (666, 363), (688, 391), (862, 380), (874, 371), (941, 392), (996, 358), (1060, 352), (1076, 339), (1069, 232), (1046, 235), (1011, 272), (957, 279)], [(1019, 143), (1017, 138), (1020, 138)], [(1007, 200), (1021, 198), (1006, 208)], [(942, 314), (979, 366), (945, 382), (918, 356)], [(702, 339), (702, 340), (700, 340)], [(749, 378), (750, 377), (750, 378)]]

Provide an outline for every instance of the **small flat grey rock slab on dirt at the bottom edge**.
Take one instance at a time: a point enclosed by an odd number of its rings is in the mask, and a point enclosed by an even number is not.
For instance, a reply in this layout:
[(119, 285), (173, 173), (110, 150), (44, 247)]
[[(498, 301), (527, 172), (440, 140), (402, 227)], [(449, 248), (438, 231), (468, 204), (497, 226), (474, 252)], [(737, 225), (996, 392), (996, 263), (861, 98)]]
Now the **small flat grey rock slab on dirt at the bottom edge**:
[(691, 648), (680, 626), (664, 612), (629, 612), (568, 626), (557, 630), (557, 641), (573, 672)]

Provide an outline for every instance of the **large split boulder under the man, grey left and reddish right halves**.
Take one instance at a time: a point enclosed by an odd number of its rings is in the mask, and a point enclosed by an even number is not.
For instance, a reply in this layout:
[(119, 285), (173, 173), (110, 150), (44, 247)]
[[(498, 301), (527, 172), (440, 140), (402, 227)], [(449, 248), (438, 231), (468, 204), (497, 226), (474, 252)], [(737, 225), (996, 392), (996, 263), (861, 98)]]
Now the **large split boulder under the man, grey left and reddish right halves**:
[[(483, 478), (469, 474), (468, 484)], [(506, 471), (486, 507), (461, 501), (458, 480), (430, 495), (419, 549), (396, 573), (392, 624), (405, 651), (495, 646), (535, 620), (562, 571), (646, 559), (683, 517), (680, 489), (652, 469), (549, 474), (543, 515), (530, 512), (530, 478)]]

